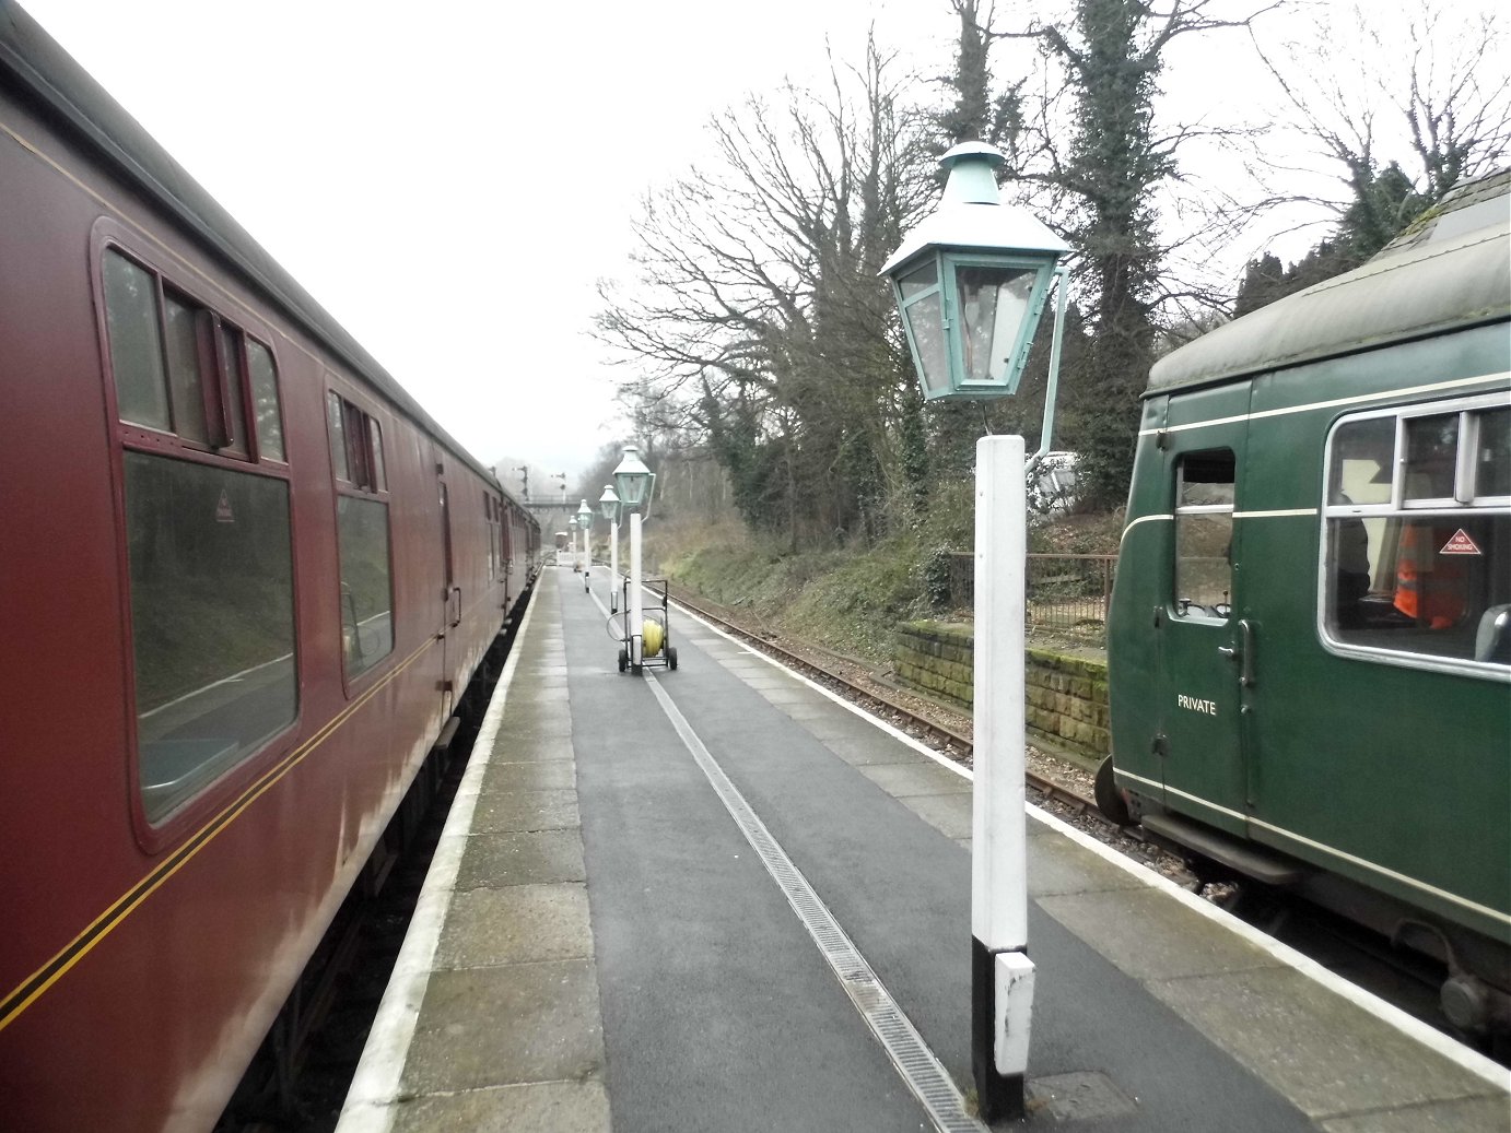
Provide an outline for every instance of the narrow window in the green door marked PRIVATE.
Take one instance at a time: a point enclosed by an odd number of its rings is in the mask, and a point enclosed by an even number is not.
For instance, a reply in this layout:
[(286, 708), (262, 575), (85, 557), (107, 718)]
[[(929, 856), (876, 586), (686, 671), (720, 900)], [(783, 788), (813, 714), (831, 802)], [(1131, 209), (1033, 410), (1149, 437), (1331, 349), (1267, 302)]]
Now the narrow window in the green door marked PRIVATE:
[(1233, 595), (1230, 449), (1186, 453), (1176, 470), (1176, 592), (1179, 618), (1227, 618)]

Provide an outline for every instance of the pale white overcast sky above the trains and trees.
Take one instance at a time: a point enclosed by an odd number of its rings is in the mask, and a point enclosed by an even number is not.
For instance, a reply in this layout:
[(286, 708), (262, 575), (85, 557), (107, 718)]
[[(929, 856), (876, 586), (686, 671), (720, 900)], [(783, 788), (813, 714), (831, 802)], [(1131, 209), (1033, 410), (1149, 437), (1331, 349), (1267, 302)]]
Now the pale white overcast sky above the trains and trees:
[[(595, 281), (632, 276), (709, 116), (869, 23), (923, 74), (955, 33), (947, 0), (21, 6), (473, 455), (573, 482), (633, 375), (589, 337)], [(1241, 33), (1166, 76), (1204, 107), (1262, 83)]]

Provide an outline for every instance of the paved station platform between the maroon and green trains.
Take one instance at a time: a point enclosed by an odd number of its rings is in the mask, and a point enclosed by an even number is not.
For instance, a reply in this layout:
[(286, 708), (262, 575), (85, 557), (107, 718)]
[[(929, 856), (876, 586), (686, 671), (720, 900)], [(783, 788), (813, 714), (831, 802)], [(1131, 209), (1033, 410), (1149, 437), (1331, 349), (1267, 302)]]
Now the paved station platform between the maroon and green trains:
[[(672, 612), (616, 671), (547, 570), (341, 1133), (979, 1130), (970, 778)], [(1506, 1071), (1034, 811), (1029, 1116), (1511, 1127)]]

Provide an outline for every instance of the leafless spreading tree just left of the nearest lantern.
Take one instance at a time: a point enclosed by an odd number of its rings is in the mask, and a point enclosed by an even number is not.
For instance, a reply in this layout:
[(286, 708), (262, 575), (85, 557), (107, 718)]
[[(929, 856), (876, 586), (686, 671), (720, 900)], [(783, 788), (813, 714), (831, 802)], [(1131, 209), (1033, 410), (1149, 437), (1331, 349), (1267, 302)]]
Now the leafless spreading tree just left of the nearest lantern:
[(895, 69), (870, 41), (822, 95), (715, 118), (713, 160), (645, 202), (638, 278), (600, 289), (600, 337), (707, 435), (746, 518), (793, 541), (875, 533), (904, 479), (910, 387), (876, 272), (929, 184)]

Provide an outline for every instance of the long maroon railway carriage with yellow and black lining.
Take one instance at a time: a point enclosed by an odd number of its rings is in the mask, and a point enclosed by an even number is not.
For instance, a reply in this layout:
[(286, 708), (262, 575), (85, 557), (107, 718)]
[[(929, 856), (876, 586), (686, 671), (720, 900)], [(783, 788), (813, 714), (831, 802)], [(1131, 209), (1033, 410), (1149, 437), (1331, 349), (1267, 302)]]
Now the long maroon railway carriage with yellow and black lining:
[(539, 532), (8, 0), (0, 500), (0, 1125), (204, 1130)]

